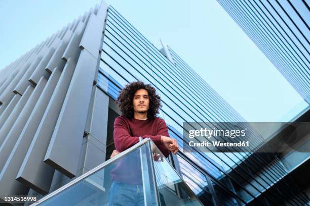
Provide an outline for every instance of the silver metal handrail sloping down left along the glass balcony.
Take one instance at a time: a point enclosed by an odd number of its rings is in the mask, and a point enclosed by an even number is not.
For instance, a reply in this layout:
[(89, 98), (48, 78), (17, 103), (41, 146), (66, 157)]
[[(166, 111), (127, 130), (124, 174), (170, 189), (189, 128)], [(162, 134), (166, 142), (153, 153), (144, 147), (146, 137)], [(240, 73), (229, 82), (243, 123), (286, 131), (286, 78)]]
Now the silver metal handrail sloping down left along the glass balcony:
[(65, 190), (66, 188), (70, 187), (71, 185), (75, 184), (76, 182), (79, 182), (80, 180), (94, 174), (95, 172), (101, 170), (102, 168), (104, 168), (105, 166), (119, 160), (120, 158), (124, 157), (125, 155), (127, 155), (128, 153), (132, 152), (133, 150), (137, 149), (138, 147), (142, 146), (143, 144), (147, 143), (148, 141), (150, 141), (150, 138), (144, 138), (142, 141), (139, 141), (138, 143), (136, 143), (135, 145), (133, 145), (132, 147), (126, 149), (125, 151), (122, 151), (121, 153), (119, 153), (117, 156), (105, 161), (104, 163), (98, 165), (97, 167), (91, 169), (90, 171), (86, 172), (85, 174), (75, 178), (74, 180), (68, 182), (67, 184), (63, 185), (62, 187), (56, 189), (55, 191), (51, 192), (50, 194), (47, 194), (46, 196), (44, 196), (43, 198), (37, 200), (36, 202), (32, 203), (30, 206), (35, 206), (38, 205), (44, 201), (46, 201), (47, 199), (55, 196), (56, 194), (60, 193), (61, 191)]

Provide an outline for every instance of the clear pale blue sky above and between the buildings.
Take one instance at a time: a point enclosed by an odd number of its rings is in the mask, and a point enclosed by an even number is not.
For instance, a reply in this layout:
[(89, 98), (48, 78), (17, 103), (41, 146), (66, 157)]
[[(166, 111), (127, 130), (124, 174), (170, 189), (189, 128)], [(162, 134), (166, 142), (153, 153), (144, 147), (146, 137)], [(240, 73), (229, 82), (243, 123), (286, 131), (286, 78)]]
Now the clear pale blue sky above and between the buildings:
[[(289, 121), (308, 106), (216, 0), (107, 0), (160, 38), (249, 122)], [(0, 69), (99, 0), (0, 1)]]

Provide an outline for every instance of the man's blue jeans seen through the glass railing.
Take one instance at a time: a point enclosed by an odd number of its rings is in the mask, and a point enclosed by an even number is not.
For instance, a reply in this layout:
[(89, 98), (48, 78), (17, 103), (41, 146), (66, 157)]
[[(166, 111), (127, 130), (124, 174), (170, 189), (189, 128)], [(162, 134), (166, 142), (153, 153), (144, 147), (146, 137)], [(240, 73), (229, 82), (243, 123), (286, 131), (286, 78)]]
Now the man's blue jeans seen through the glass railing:
[[(153, 191), (151, 191), (153, 194)], [(109, 206), (144, 205), (143, 186), (113, 180), (109, 190)], [(154, 202), (154, 205), (156, 203)]]

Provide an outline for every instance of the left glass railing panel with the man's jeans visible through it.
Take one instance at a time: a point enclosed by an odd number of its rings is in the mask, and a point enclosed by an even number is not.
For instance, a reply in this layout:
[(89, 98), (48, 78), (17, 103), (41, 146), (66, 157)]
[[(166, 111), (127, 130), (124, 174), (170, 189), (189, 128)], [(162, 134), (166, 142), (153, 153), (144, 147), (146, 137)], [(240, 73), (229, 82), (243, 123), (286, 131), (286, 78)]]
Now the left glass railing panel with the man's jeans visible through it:
[(143, 144), (40, 205), (156, 205), (150, 154)]

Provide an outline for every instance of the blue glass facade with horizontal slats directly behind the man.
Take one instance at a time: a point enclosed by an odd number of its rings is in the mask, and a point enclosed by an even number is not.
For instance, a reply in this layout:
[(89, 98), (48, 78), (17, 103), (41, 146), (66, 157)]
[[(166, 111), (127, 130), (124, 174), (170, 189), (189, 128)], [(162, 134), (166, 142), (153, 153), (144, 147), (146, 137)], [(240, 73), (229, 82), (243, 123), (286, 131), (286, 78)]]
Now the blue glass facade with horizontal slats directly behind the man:
[[(172, 48), (168, 50), (173, 61), (110, 6), (97, 85), (112, 99), (132, 81), (156, 87), (163, 105), (159, 116), (181, 149), (183, 122), (245, 122)], [(280, 181), (288, 170), (271, 153), (179, 152), (177, 159), (184, 180), (206, 204), (300, 205), (308, 201), (293, 181)]]

